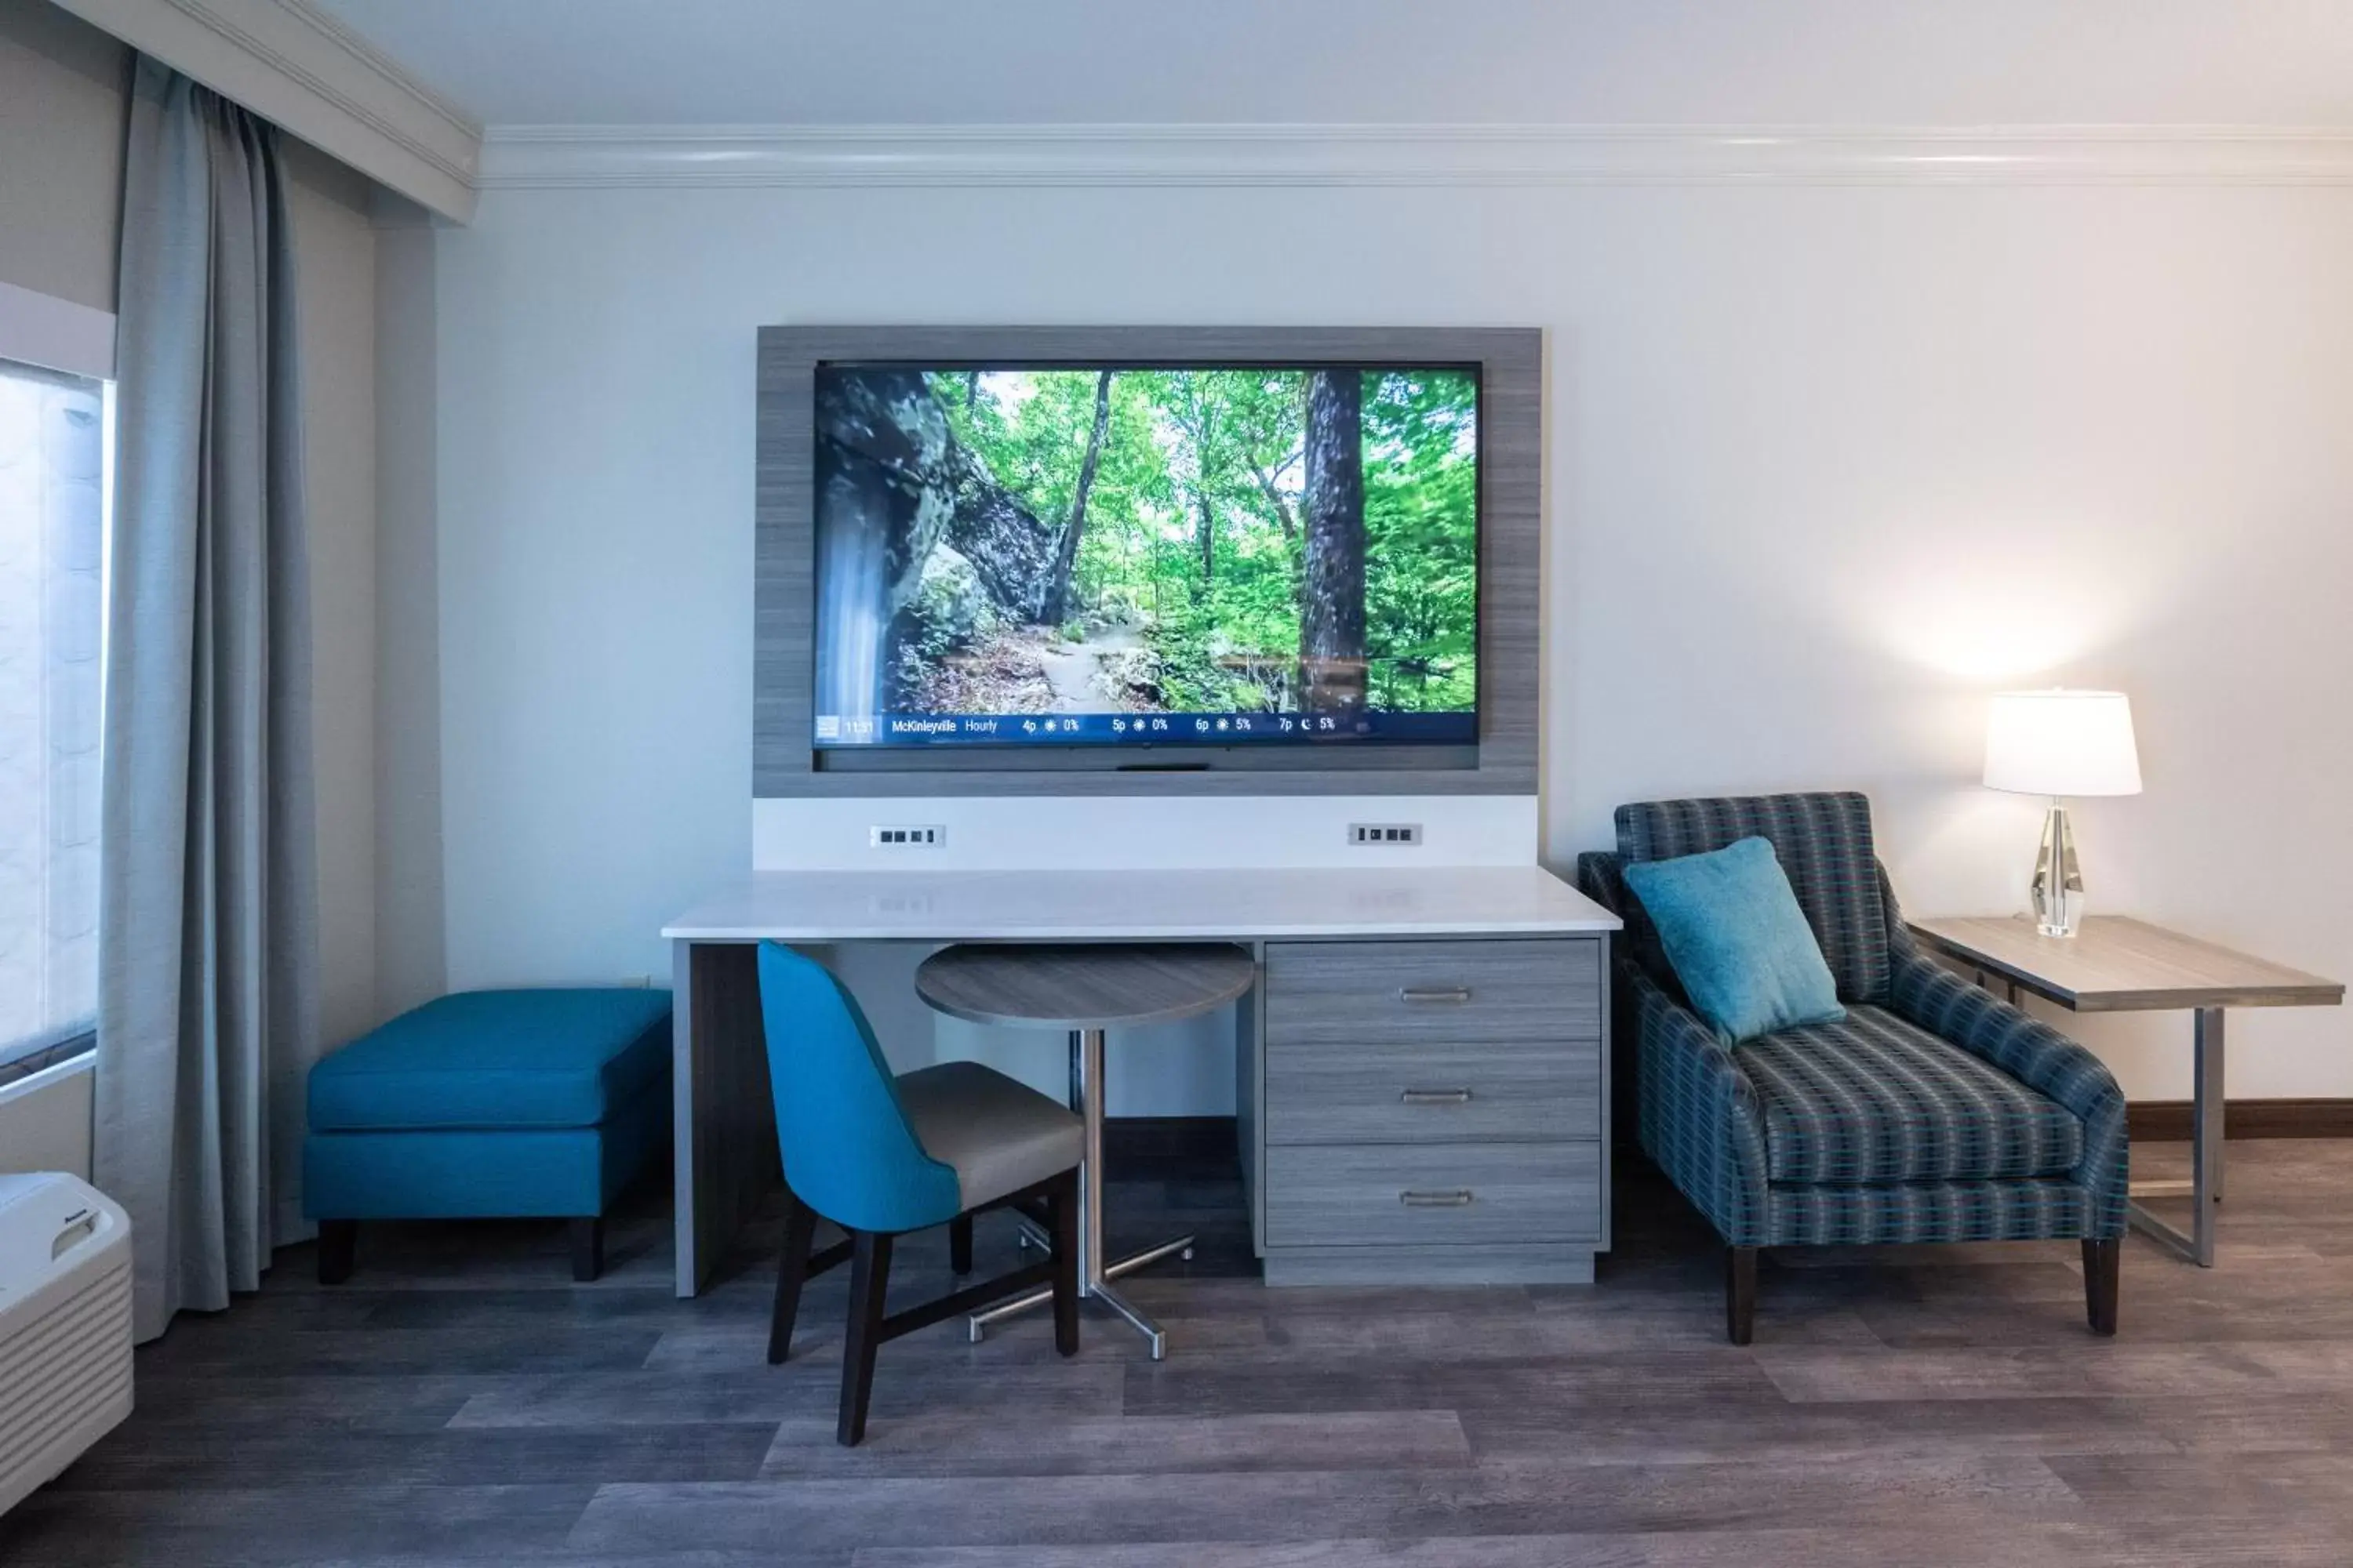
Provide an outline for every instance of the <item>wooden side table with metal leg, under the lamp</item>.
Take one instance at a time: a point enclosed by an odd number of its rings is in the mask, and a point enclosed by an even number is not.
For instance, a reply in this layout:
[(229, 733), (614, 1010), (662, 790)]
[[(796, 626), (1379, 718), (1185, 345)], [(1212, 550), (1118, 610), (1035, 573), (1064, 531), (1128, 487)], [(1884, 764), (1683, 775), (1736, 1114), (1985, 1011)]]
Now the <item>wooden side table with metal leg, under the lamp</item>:
[(2191, 1232), (2174, 1229), (2141, 1204), (2132, 1204), (2132, 1225), (2198, 1267), (2214, 1267), (2214, 1204), (2221, 1201), (2224, 1138), (2224, 1009), (2337, 1006), (2346, 999), (2346, 987), (2125, 914), (2094, 914), (2082, 922), (2080, 936), (2042, 936), (2024, 914), (1915, 919), (1911, 929), (1937, 952), (1974, 969), (1979, 985), (2000, 976), (2012, 1001), (2019, 992), (2033, 992), (2073, 1013), (2186, 1009), (2195, 1016), (2191, 1180), (2132, 1182), (2134, 1199), (2186, 1192)]

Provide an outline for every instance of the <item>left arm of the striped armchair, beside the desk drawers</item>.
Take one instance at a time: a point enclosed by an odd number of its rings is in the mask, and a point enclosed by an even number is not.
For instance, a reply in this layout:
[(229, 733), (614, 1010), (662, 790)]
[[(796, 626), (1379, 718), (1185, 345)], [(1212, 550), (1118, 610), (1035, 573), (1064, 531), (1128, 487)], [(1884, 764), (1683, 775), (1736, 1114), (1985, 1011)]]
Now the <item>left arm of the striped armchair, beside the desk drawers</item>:
[(1642, 1150), (1729, 1246), (1765, 1246), (1765, 1110), (1715, 1032), (1619, 961), (1635, 1032)]

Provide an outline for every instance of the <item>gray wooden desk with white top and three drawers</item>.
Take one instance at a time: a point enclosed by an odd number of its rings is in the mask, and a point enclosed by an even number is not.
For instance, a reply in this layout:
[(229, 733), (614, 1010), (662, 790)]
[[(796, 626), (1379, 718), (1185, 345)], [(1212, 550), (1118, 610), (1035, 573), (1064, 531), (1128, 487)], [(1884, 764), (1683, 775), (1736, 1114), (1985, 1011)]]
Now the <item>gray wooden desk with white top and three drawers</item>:
[(678, 1293), (776, 1180), (753, 943), (1235, 943), (1266, 1284), (1586, 1284), (1609, 1246), (1617, 914), (1537, 865), (758, 872), (664, 929)]

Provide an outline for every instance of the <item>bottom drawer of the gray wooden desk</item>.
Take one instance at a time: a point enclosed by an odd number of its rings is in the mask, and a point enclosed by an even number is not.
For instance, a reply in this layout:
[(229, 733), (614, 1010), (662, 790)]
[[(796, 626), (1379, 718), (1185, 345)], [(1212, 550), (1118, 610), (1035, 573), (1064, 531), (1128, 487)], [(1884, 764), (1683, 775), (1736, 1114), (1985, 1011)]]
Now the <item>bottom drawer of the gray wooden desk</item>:
[(1266, 1246), (1595, 1239), (1598, 1143), (1266, 1150)]

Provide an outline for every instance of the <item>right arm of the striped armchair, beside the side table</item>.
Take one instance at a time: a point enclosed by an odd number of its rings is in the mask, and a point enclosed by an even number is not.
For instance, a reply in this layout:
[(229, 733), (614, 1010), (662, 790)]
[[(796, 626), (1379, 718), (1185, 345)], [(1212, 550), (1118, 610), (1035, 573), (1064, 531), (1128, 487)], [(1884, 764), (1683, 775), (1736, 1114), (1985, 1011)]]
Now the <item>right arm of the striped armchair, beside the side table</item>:
[(2129, 1147), (2125, 1091), (2108, 1065), (1929, 959), (1904, 926), (1897, 926), (1892, 959), (1889, 1001), (1899, 1018), (2000, 1067), (2082, 1121), (2082, 1161), (2071, 1178), (2092, 1194), (2092, 1237), (2122, 1237)]

